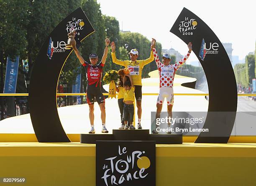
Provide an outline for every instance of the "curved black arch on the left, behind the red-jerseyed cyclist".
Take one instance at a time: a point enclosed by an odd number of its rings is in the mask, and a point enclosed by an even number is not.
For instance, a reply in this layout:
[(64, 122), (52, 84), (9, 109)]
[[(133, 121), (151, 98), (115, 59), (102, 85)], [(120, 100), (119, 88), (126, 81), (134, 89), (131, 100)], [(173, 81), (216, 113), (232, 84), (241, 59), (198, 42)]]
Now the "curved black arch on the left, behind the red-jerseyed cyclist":
[[(72, 52), (71, 49), (64, 49), (67, 33), (72, 29), (77, 31), (77, 45), (95, 31), (82, 8), (68, 15), (54, 28), (33, 66), (28, 101), (38, 142), (70, 142), (59, 120), (56, 92), (61, 69)], [(51, 42), (55, 48), (53, 53)]]

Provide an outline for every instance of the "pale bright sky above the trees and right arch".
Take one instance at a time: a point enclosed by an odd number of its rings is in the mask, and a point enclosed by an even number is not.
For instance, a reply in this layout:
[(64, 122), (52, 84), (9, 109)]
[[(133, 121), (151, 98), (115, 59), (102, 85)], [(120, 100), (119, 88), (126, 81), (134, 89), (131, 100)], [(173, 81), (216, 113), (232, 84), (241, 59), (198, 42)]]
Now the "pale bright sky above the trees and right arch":
[[(187, 45), (169, 32), (185, 7), (200, 17), (222, 43), (232, 43), (233, 56), (245, 58), (255, 51), (256, 1), (240, 0), (97, 0), (102, 14), (119, 21), (120, 30), (155, 38), (162, 48), (174, 48), (182, 55)], [(197, 61), (195, 54), (190, 60)]]

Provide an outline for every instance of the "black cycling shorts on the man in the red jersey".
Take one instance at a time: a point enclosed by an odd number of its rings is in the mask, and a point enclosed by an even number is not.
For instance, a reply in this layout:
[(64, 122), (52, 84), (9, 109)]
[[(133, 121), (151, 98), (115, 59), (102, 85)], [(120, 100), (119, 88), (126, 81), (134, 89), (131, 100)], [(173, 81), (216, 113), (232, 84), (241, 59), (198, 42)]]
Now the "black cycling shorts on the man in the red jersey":
[(94, 104), (95, 98), (98, 104), (105, 103), (105, 97), (101, 92), (101, 87), (87, 87), (87, 103)]

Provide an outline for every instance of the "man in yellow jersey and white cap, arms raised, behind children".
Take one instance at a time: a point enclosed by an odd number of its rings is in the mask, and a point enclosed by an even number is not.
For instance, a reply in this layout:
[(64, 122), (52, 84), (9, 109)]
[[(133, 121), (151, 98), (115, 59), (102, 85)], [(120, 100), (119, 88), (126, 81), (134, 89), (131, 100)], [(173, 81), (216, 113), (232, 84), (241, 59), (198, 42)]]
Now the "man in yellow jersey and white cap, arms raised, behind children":
[(131, 52), (129, 52), (130, 54), (130, 59), (131, 60), (119, 60), (116, 58), (115, 56), (115, 42), (111, 43), (111, 48), (112, 48), (112, 60), (115, 64), (119, 64), (122, 66), (125, 66), (125, 68), (128, 68), (130, 70), (130, 75), (131, 75), (131, 79), (133, 80), (133, 84), (135, 87), (135, 98), (136, 98), (136, 105), (138, 108), (138, 125), (137, 128), (138, 129), (142, 129), (141, 127), (141, 98), (142, 98), (142, 92), (141, 92), (141, 87), (142, 87), (142, 83), (141, 83), (141, 73), (142, 73), (142, 69), (146, 64), (149, 64), (150, 62), (154, 61), (154, 54), (153, 54), (153, 48), (155, 47), (153, 44), (153, 41), (151, 42), (151, 52), (150, 52), (150, 57), (148, 59), (144, 59), (144, 60), (137, 60), (138, 58), (138, 51), (136, 49), (132, 49)]

